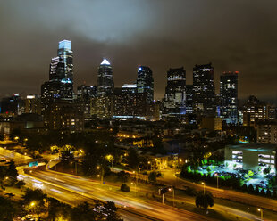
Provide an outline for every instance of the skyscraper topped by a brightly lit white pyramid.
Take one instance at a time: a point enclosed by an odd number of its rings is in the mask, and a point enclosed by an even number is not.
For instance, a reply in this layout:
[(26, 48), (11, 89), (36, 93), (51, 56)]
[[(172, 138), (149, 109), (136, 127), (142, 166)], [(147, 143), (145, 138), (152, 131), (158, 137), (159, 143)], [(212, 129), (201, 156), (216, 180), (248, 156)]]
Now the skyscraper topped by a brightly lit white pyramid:
[(100, 97), (113, 95), (113, 69), (109, 61), (104, 59), (98, 67), (97, 95)]

